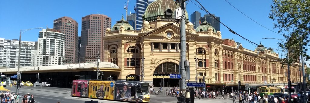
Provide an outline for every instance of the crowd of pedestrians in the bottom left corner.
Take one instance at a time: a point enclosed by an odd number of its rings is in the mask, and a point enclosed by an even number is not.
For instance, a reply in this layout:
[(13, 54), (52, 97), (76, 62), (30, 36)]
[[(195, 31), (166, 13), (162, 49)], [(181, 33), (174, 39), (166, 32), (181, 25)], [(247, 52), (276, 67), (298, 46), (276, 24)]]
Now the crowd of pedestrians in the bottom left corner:
[(23, 97), (21, 103), (35, 102), (33, 95), (30, 95), (29, 93), (27, 95), (19, 95), (18, 93), (15, 94), (7, 91), (7, 92), (1, 92), (0, 95), (1, 103), (20, 103), (20, 97)]

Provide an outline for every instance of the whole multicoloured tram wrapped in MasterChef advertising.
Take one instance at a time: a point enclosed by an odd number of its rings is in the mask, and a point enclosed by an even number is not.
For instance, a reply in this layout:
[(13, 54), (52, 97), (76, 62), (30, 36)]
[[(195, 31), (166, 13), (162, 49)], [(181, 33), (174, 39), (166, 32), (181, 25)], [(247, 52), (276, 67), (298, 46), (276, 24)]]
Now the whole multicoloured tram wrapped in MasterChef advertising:
[(73, 80), (72, 96), (113, 101), (149, 102), (147, 82)]

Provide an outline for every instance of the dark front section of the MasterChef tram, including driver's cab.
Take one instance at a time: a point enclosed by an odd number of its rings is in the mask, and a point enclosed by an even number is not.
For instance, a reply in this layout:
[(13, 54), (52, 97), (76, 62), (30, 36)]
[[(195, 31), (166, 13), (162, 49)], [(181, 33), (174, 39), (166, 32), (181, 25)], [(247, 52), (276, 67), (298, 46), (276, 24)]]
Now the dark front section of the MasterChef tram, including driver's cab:
[(115, 100), (118, 101), (150, 101), (148, 83), (138, 81), (116, 81)]

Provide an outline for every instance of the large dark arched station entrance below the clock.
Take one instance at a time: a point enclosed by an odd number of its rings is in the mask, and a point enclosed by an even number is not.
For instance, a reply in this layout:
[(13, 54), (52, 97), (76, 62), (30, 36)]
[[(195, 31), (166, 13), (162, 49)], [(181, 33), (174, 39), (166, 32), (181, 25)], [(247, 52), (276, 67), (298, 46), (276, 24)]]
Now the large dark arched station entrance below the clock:
[(158, 65), (153, 74), (155, 87), (179, 87), (180, 79), (170, 78), (170, 74), (179, 74), (179, 65), (174, 62), (164, 62)]

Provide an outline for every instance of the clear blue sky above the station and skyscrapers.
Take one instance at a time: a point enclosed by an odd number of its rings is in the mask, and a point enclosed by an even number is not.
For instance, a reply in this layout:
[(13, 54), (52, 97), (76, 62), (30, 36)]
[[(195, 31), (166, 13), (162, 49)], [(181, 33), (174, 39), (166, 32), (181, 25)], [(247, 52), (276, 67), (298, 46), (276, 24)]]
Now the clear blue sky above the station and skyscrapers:
[[(265, 47), (278, 48), (277, 42), (280, 42), (279, 40), (262, 38), (284, 39), (283, 36), (271, 32), (248, 19), (225, 0), (198, 1), (210, 13), (219, 16), (221, 22), (250, 41), (257, 44), (262, 42)], [(268, 18), (272, 0), (265, 0), (264, 2), (255, 0), (227, 1), (259, 24), (277, 32), (278, 29), (273, 29), (275, 21)], [(53, 20), (62, 16), (72, 17), (79, 23), (79, 35), (81, 35), (81, 19), (86, 15), (97, 13), (108, 15), (112, 18), (113, 26), (116, 20), (122, 18), (122, 14), (126, 14), (124, 10), (126, 2), (127, 0), (2, 0), (0, 1), (0, 38), (18, 39), (20, 29), (53, 28)], [(133, 10), (135, 3), (136, 0), (129, 0), (128, 13), (130, 11), (135, 12)], [(201, 15), (206, 14), (192, 2), (188, 3), (186, 9), (189, 15), (194, 11), (201, 12)], [(241, 42), (246, 49), (254, 50), (256, 48), (255, 45), (251, 45), (241, 37), (229, 32), (223, 25), (220, 25), (220, 29), (223, 39), (233, 38), (235, 41)], [(34, 29), (23, 33), (22, 41), (37, 41), (39, 31), (39, 29)], [(275, 50), (275, 52), (278, 51)]]

